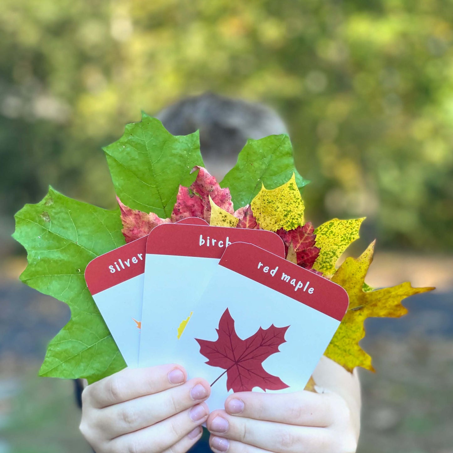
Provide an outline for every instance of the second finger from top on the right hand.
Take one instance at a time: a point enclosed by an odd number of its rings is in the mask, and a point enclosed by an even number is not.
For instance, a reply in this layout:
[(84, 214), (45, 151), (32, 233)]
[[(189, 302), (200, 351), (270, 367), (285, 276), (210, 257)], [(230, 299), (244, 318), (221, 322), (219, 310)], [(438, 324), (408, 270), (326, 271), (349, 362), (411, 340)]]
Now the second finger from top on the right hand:
[(218, 437), (247, 443), (275, 453), (317, 453), (330, 451), (330, 432), (313, 428), (246, 419), (215, 411), (208, 419), (207, 429)]

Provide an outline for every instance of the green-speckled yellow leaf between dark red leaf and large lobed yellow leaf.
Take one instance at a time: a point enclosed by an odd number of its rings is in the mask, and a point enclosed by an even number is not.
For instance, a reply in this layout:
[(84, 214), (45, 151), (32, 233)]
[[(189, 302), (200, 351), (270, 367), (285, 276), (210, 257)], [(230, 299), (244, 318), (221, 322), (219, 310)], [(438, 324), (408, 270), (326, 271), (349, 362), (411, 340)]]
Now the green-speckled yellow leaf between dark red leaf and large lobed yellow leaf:
[(335, 272), (335, 264), (347, 247), (359, 238), (359, 229), (365, 217), (360, 219), (339, 220), (332, 219), (318, 226), (316, 234), (316, 246), (321, 250), (316, 259), (313, 269), (324, 275), (332, 275)]

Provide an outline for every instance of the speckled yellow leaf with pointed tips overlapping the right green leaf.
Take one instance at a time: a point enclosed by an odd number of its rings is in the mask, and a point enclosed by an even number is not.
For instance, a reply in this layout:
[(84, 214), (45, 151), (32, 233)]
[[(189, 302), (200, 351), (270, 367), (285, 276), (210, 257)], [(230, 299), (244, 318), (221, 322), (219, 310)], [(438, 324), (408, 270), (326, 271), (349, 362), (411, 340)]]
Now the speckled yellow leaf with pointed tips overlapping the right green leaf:
[(263, 185), (252, 200), (251, 208), (263, 230), (277, 231), (284, 228), (288, 231), (304, 225), (304, 201), (294, 173), (287, 183), (273, 190), (267, 190)]

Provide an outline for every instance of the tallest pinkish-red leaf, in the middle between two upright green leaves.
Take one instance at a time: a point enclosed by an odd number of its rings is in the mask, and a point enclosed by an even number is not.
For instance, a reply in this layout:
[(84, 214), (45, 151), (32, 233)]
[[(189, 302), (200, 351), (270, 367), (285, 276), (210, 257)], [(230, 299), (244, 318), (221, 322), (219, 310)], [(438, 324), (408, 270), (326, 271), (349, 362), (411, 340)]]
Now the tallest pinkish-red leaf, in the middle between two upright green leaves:
[(197, 178), (189, 188), (179, 186), (176, 204), (171, 215), (172, 222), (177, 222), (186, 217), (201, 217), (209, 222), (211, 219), (209, 196), (218, 207), (230, 214), (234, 213), (230, 189), (222, 189), (216, 178), (203, 167), (193, 167), (192, 171), (197, 169)]

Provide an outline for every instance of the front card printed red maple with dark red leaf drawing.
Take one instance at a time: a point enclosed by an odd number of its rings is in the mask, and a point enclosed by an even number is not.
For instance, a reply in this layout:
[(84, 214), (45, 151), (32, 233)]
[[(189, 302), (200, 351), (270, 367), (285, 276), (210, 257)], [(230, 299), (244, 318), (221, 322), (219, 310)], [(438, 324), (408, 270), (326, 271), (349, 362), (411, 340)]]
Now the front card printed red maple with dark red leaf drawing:
[(172, 361), (230, 392), (303, 390), (346, 313), (339, 285), (246, 243), (232, 244), (200, 298)]

